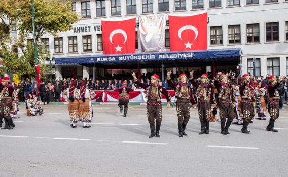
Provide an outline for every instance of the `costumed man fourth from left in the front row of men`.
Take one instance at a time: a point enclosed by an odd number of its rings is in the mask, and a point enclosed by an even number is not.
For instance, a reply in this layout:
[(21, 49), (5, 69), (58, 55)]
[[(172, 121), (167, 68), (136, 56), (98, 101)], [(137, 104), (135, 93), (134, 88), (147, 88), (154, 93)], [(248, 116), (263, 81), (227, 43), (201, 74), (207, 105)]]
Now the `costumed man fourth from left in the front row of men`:
[[(218, 108), (220, 116), (221, 134), (230, 134), (228, 129), (234, 118), (234, 107), (236, 100), (233, 96), (233, 87), (228, 83), (228, 76), (217, 73), (215, 76), (215, 86), (218, 91)], [(227, 122), (225, 125), (225, 121)]]

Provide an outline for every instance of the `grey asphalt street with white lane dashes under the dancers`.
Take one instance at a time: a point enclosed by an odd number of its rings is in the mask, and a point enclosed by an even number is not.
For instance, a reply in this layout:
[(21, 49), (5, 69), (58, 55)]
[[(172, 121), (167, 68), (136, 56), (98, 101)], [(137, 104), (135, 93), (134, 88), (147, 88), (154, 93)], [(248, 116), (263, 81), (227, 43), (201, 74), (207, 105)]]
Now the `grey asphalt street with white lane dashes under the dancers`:
[[(20, 119), (13, 130), (0, 130), (0, 176), (288, 176), (288, 107), (275, 122), (232, 124), (230, 135), (220, 123), (199, 135), (197, 109), (191, 109), (188, 136), (178, 137), (174, 108), (163, 106), (160, 138), (148, 138), (145, 105), (130, 105), (123, 117), (117, 105), (93, 105), (91, 128), (70, 127), (68, 105), (42, 105), (44, 114)], [(219, 117), (219, 115), (217, 115)]]

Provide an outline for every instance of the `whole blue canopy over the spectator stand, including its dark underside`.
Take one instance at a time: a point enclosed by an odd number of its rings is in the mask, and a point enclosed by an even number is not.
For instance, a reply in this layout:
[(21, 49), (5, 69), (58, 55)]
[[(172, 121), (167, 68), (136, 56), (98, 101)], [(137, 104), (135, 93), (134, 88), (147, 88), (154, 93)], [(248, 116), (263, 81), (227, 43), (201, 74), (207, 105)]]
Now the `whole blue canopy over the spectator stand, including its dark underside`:
[(209, 49), (197, 51), (173, 51), (133, 53), (121, 55), (89, 55), (55, 58), (56, 64), (81, 64), (97, 68), (157, 68), (165, 67), (196, 67), (215, 65), (238, 65), (242, 51), (240, 48)]

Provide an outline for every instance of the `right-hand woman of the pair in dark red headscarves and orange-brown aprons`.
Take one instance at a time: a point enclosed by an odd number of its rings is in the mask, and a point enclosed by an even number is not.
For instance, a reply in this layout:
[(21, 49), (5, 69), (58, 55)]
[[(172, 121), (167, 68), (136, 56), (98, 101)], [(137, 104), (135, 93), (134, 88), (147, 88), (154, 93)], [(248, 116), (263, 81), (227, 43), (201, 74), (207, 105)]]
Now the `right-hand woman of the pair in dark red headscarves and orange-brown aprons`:
[(96, 93), (86, 88), (86, 81), (80, 81), (80, 89), (75, 90), (75, 99), (79, 100), (79, 119), (83, 123), (83, 128), (90, 128), (93, 117), (91, 99), (96, 97)]

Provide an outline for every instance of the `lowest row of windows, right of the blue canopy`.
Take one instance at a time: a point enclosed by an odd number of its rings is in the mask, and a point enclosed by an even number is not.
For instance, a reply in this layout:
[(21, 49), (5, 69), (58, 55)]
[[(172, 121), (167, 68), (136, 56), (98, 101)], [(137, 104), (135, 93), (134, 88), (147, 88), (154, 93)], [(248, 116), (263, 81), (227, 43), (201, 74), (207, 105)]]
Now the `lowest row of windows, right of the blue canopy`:
[[(262, 76), (262, 75), (280, 75), (280, 58), (267, 58), (267, 72), (262, 74), (260, 70), (261, 60), (260, 58), (255, 58), (255, 73), (253, 69), (253, 58), (247, 59), (247, 68), (251, 76)], [(286, 58), (286, 72), (288, 74), (288, 57)]]

